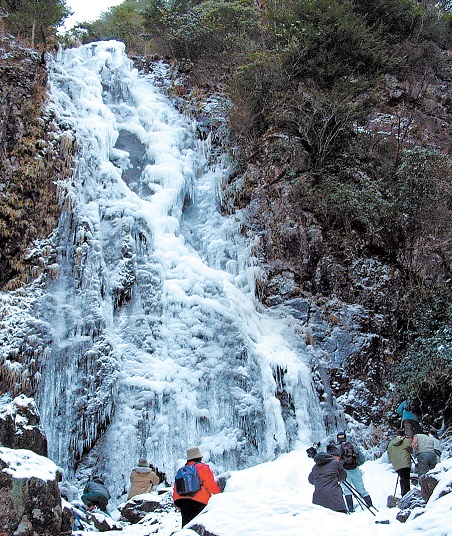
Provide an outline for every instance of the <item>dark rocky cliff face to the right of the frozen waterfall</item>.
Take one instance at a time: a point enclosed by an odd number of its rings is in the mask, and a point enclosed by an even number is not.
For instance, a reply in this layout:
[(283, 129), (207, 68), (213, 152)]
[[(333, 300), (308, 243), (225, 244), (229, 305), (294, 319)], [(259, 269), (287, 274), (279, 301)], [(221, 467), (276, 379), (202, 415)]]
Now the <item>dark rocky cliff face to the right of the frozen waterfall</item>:
[[(344, 154), (321, 173), (312, 172), (299, 137), (272, 129), (246, 148), (245, 163), (227, 185), (227, 210), (245, 210), (244, 232), (256, 237), (262, 302), (307, 328), (307, 340), (323, 355), (313, 364), (319, 394), (325, 387), (319, 371), (326, 367), (346, 413), (365, 424), (395, 422), (401, 393), (387, 390), (388, 365), (407, 343), (420, 294), (451, 276), (450, 207), (441, 205), (450, 199), (450, 160), (441, 173), (432, 166), (423, 178), (410, 169), (409, 187), (416, 182), (421, 198), (414, 212), (422, 222), (404, 227), (383, 213), (390, 205), (410, 217), (394, 202), (408, 187), (398, 183), (401, 172), (390, 160), (397, 162), (405, 150), (450, 158), (452, 62), (450, 54), (442, 56), (441, 76), (428, 83), (421, 74), (404, 81), (385, 77), (367, 122), (355, 125)], [(361, 143), (367, 145), (359, 154)], [(379, 189), (385, 181), (397, 187)], [(435, 183), (443, 184), (437, 204), (429, 199)], [(447, 404), (438, 404), (433, 393), (419, 388), (423, 413), (430, 422), (432, 412), (449, 422)]]

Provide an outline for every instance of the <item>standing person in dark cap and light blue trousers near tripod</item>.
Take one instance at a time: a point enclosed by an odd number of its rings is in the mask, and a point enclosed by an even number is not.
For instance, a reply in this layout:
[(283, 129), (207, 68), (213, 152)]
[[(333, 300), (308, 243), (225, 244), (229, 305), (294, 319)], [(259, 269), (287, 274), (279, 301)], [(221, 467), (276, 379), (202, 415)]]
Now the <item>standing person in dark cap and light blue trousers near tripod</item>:
[[(347, 482), (356, 489), (367, 506), (373, 506), (369, 492), (364, 487), (363, 475), (359, 468), (359, 466), (365, 462), (364, 454), (356, 445), (347, 439), (345, 432), (339, 432), (336, 438), (338, 441), (336, 447), (341, 453), (341, 460), (344, 469), (347, 471)], [(327, 452), (329, 452), (328, 448)], [(354, 511), (352, 492), (350, 488), (345, 485), (342, 485), (342, 489), (344, 491), (348, 511), (351, 513)]]

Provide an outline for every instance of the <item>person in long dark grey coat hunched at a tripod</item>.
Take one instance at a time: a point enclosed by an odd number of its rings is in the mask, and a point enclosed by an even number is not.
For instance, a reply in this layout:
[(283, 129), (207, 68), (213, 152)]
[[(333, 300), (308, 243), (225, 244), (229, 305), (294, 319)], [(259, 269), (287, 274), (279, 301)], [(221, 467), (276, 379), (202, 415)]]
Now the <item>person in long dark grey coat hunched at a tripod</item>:
[(315, 486), (312, 495), (313, 504), (336, 512), (348, 513), (339, 483), (347, 478), (340, 451), (330, 448), (330, 452), (318, 452), (314, 456), (314, 462), (315, 465), (308, 476), (309, 483)]

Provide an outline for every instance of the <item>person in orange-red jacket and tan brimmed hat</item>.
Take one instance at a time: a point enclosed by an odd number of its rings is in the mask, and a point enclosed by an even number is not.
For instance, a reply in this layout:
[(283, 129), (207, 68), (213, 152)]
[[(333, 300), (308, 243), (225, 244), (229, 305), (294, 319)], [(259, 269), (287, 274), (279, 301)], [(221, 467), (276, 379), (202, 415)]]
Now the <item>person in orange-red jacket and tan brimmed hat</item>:
[(174, 484), (173, 499), (174, 504), (182, 514), (182, 527), (185, 527), (187, 523), (204, 510), (212, 495), (221, 492), (210, 467), (206, 463), (202, 463), (202, 454), (199, 447), (192, 447), (187, 450), (187, 465), (196, 467), (201, 489), (188, 497), (180, 495), (176, 490), (176, 484)]

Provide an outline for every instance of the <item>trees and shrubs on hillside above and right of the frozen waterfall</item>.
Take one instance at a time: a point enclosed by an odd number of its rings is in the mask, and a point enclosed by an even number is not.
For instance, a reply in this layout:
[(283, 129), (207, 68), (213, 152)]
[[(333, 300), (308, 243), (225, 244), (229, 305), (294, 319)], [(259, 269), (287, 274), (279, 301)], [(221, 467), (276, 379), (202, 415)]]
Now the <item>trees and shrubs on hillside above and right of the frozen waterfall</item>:
[[(417, 398), (431, 424), (452, 423), (450, 1), (125, 0), (59, 37), (64, 1), (0, 5), (3, 31), (39, 50), (118, 39), (132, 57), (164, 58), (185, 74), (173, 95), (226, 96), (234, 169), (224, 210), (258, 200), (264, 182), (283, 188), (284, 217), (315, 219), (348, 284), (297, 266), (299, 244), (275, 231), (281, 213), (250, 223), (250, 233), (265, 231), (262, 263), (289, 266), (301, 293), (384, 317), (391, 344), (378, 344), (361, 374)], [(396, 274), (384, 298), (350, 275), (369, 258)]]

